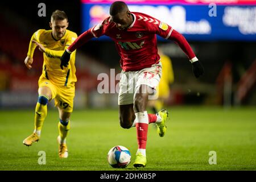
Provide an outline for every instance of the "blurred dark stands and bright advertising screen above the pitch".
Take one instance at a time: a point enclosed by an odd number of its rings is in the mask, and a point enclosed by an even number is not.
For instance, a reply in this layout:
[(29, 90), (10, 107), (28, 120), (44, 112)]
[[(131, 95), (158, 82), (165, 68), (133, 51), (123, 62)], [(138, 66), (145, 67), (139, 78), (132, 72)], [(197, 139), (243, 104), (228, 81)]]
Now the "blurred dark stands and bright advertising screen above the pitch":
[[(1, 2), (0, 108), (34, 107), (42, 53), (37, 49), (33, 69), (23, 61), (31, 35), (49, 29), (51, 13), (64, 10), (69, 30), (80, 35), (109, 14), (113, 1), (42, 1), (46, 16), (39, 17), (41, 1)], [(209, 16), (208, 1), (126, 1), (132, 11), (141, 11), (171, 24), (191, 43), (203, 62), (205, 75), (196, 79), (191, 64), (174, 42), (159, 39), (170, 56), (175, 82), (168, 105), (256, 105), (256, 7), (255, 1), (217, 1), (217, 16)], [(209, 1), (210, 2), (210, 1)], [(214, 1), (213, 1), (214, 2)], [(112, 41), (92, 40), (77, 51), (75, 108), (117, 107), (117, 93), (99, 94), (99, 73), (119, 73), (119, 56)], [(115, 86), (115, 85), (109, 85)], [(109, 88), (110, 90), (111, 88)]]

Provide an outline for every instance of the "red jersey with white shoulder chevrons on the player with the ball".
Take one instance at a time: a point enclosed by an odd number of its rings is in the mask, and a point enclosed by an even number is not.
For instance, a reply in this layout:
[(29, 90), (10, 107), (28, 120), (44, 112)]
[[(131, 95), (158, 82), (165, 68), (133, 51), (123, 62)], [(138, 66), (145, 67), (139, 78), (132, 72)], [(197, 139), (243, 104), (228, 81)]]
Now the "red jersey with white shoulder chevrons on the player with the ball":
[(126, 31), (119, 30), (110, 17), (90, 28), (93, 36), (109, 36), (121, 56), (124, 71), (138, 71), (158, 63), (156, 34), (168, 39), (172, 27), (149, 15), (133, 12), (134, 21)]

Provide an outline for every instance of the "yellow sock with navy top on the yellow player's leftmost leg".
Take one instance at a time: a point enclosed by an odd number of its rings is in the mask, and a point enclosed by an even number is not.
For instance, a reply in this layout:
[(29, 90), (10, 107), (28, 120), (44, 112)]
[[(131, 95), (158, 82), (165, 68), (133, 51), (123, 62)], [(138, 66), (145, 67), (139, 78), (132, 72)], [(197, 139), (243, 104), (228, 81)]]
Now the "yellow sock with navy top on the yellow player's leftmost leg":
[(34, 133), (40, 136), (41, 129), (43, 126), (44, 119), (47, 116), (47, 103), (48, 97), (47, 96), (39, 96), (38, 103), (35, 107), (35, 130)]

